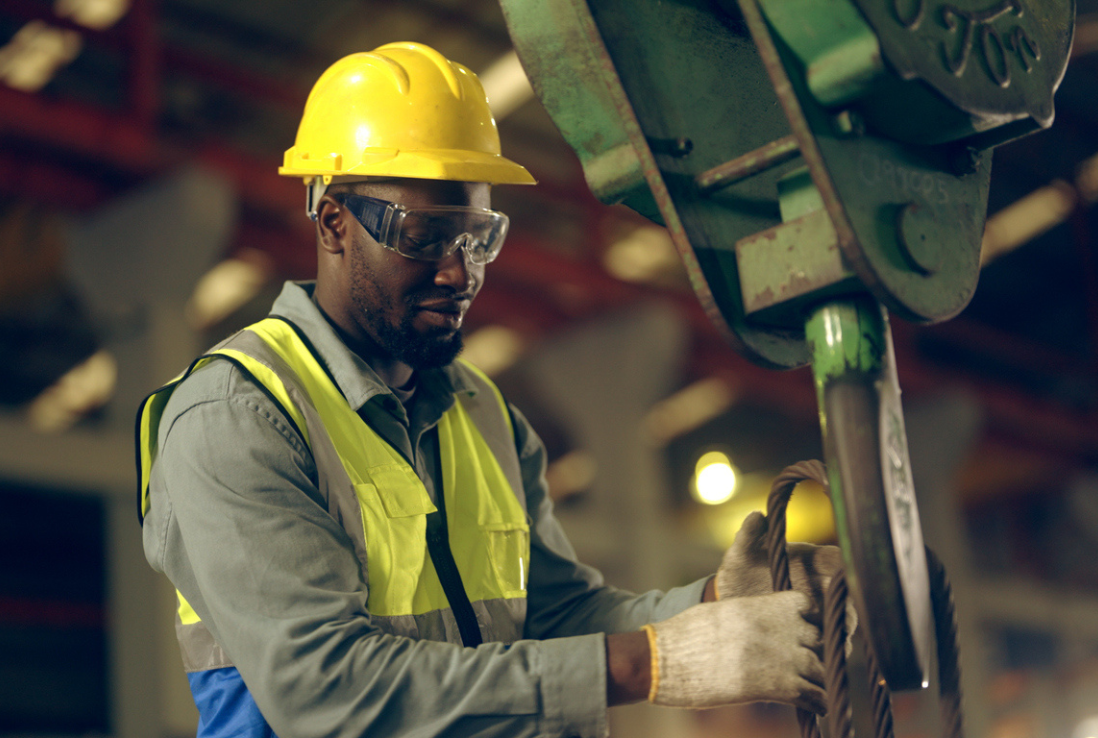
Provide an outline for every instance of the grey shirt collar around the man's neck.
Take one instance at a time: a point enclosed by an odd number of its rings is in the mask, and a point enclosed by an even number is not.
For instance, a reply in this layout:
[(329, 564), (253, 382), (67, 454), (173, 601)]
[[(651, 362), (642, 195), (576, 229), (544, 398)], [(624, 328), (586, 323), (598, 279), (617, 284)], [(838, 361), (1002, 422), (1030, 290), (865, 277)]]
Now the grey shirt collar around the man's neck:
[[(388, 395), (395, 402), (396, 398), (389, 387), (381, 381), (369, 364), (347, 348), (324, 313), (313, 302), (315, 289), (315, 281), (285, 282), (271, 308), (271, 316), (284, 317), (301, 328), (313, 344), (317, 358), (332, 372), (336, 385), (352, 410), (357, 412), (379, 395)], [(424, 395), (452, 398), (457, 392), (477, 394), (477, 387), (453, 365), (417, 371), (416, 377), (417, 392), (423, 391)]]

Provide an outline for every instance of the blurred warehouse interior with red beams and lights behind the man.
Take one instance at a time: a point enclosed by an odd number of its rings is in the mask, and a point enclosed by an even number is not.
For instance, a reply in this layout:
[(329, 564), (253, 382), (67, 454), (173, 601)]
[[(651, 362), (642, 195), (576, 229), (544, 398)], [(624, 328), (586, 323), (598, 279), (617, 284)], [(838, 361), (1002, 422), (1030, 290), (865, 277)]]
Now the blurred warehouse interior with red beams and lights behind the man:
[[(981, 738), (1098, 735), (1098, 0), (1078, 11), (1054, 126), (996, 152), (975, 299), (894, 324)], [(773, 476), (819, 456), (809, 373), (739, 358), (663, 231), (593, 199), (493, 0), (3, 0), (0, 736), (193, 735), (133, 414), (312, 277), (303, 188), (276, 168), (321, 71), (403, 40), (482, 75), (504, 153), (540, 180), (495, 192), (513, 230), (467, 356), (545, 438), (581, 557), (630, 588), (703, 575)], [(818, 491), (791, 515), (791, 537), (832, 535)], [(933, 713), (901, 695), (898, 735)], [(614, 725), (796, 735), (765, 706)]]

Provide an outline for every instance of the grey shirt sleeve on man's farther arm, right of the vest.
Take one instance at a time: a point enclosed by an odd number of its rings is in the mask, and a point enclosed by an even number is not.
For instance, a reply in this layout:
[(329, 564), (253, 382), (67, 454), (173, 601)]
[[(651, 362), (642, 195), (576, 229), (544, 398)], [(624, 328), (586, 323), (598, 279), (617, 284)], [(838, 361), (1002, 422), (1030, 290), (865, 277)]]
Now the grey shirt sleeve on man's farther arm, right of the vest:
[(608, 586), (598, 571), (579, 562), (552, 513), (545, 445), (522, 412), (513, 405), (511, 411), (531, 519), (526, 636), (630, 633), (702, 602), (704, 579), (668, 592), (652, 590), (637, 595)]

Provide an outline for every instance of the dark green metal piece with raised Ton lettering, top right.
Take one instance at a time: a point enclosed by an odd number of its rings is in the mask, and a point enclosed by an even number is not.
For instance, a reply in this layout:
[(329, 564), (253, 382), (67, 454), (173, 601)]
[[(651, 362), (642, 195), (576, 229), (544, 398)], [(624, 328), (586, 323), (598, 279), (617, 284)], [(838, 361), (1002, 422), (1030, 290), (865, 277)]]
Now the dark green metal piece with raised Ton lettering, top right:
[(1075, 0), (853, 1), (895, 70), (863, 102), (888, 135), (986, 147), (1052, 124)]

